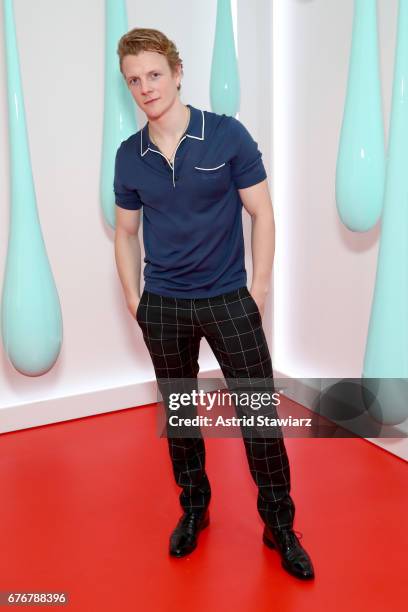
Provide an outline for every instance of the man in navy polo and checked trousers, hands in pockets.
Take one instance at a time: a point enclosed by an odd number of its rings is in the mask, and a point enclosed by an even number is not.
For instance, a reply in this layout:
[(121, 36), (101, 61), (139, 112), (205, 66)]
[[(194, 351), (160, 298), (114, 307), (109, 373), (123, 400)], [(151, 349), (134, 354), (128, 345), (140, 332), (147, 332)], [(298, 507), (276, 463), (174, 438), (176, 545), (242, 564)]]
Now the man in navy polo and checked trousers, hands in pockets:
[[(205, 337), (225, 378), (271, 382), (262, 317), (274, 220), (257, 143), (234, 117), (181, 102), (182, 62), (158, 30), (131, 30), (119, 41), (118, 55), (129, 91), (148, 122), (122, 142), (116, 155), (115, 257), (157, 380), (196, 380)], [(250, 292), (242, 205), (252, 219)], [(142, 206), (146, 266), (139, 297)], [(170, 554), (181, 557), (194, 550), (209, 523), (211, 488), (202, 437), (167, 439), (184, 510), (170, 537)], [(313, 578), (311, 559), (293, 531), (295, 506), (283, 438), (249, 435), (244, 444), (258, 486), (263, 541), (277, 549), (288, 572)]]

